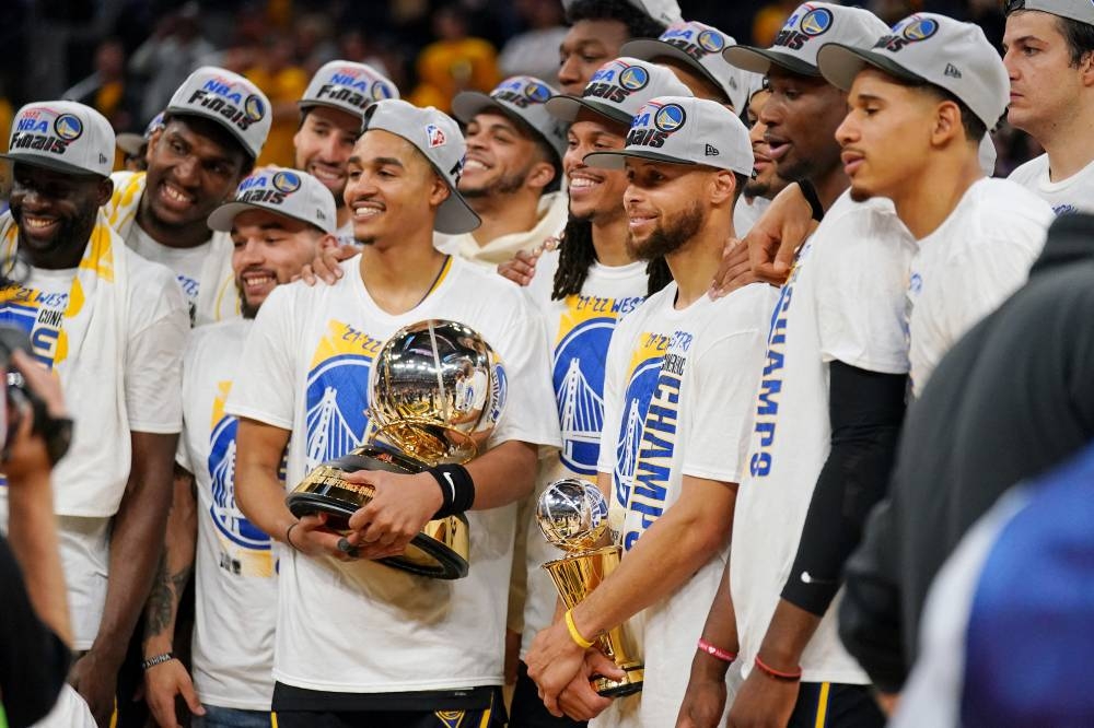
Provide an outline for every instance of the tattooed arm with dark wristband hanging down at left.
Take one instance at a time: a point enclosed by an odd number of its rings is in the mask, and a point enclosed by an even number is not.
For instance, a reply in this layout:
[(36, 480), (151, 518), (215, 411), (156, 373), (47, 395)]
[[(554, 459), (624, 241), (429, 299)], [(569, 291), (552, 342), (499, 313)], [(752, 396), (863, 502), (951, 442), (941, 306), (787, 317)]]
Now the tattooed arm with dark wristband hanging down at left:
[[(152, 584), (152, 594), (149, 595), (144, 608), (146, 660), (172, 651), (178, 601), (194, 568), (197, 537), (197, 494), (194, 475), (176, 465), (171, 512), (167, 515), (166, 542), (163, 556), (160, 559), (160, 567), (156, 570), (155, 582)], [(178, 725), (175, 716), (175, 695), (182, 695), (195, 714), (205, 713), (186, 667), (177, 659), (167, 660), (146, 670), (144, 691), (152, 715), (164, 728)]]

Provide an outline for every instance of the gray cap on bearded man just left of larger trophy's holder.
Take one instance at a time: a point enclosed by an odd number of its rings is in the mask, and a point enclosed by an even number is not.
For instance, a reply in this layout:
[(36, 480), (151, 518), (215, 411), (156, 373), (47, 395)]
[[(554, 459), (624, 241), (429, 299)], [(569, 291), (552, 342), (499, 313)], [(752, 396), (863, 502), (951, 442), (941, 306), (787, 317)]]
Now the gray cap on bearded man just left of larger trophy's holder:
[(235, 216), (247, 210), (267, 210), (315, 225), (324, 233), (338, 226), (335, 198), (323, 183), (299, 169), (263, 167), (240, 183), (231, 202), (209, 215), (209, 230), (230, 233)]

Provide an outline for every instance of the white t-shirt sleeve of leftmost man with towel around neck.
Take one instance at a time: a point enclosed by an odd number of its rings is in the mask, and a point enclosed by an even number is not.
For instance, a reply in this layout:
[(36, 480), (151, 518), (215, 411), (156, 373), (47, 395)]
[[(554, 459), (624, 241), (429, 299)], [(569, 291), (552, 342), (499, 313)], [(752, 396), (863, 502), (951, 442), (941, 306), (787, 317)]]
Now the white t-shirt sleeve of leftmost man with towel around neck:
[[(135, 274), (137, 271), (133, 271)], [(183, 352), (190, 317), (183, 292), (163, 270), (162, 285), (153, 273), (144, 286), (154, 296), (130, 302), (126, 341), (126, 410), (133, 432), (171, 434), (183, 426)]]

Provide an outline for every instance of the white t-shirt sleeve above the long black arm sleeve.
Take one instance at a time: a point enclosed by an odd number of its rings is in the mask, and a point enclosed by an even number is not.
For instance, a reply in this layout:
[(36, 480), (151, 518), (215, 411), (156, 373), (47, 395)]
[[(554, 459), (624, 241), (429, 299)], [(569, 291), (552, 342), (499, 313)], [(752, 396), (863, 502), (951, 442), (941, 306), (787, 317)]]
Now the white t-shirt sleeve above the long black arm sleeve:
[(880, 213), (856, 211), (836, 222), (812, 261), (821, 355), (869, 372), (907, 374), (911, 246), (898, 223), (886, 224)]

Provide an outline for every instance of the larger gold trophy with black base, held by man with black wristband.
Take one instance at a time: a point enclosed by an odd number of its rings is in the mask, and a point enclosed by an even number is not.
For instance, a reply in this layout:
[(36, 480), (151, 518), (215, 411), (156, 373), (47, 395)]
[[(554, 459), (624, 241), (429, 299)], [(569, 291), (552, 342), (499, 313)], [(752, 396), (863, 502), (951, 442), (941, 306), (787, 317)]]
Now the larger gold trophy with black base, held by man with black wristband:
[[(296, 517), (326, 513), (327, 526), (349, 532), (349, 518), (372, 500), (371, 485), (344, 473), (417, 473), (467, 462), (485, 447), (504, 407), (500, 360), (474, 330), (431, 319), (404, 327), (384, 344), (369, 377), (365, 443), (307, 473), (286, 498)], [(441, 579), (467, 576), (469, 532), (463, 514), (429, 521), (389, 566)]]

